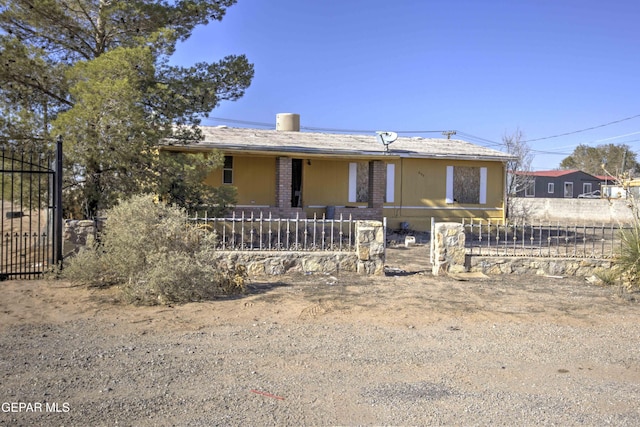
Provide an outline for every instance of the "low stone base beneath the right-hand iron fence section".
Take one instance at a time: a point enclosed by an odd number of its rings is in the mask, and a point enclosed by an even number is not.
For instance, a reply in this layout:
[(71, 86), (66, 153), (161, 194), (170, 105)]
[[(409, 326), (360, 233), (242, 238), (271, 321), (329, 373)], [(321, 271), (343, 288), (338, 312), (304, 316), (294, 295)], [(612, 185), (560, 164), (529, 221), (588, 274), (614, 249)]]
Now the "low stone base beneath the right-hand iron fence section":
[(466, 266), (469, 272), (485, 274), (589, 277), (610, 269), (613, 262), (601, 259), (467, 256)]

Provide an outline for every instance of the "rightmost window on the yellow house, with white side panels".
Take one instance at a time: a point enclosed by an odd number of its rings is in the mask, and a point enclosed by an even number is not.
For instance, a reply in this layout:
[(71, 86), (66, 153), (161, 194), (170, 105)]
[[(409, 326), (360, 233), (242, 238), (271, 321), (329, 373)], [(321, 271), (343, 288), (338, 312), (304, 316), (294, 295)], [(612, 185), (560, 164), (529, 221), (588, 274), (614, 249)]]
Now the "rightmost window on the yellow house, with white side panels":
[(487, 203), (487, 168), (447, 166), (446, 202)]

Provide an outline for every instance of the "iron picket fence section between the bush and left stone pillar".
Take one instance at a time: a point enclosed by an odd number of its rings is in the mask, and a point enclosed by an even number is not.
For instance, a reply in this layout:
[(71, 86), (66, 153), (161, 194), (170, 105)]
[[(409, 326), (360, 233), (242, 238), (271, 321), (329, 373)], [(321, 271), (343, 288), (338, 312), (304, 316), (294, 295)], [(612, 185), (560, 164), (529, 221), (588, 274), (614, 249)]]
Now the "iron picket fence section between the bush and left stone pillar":
[(214, 234), (216, 249), (244, 251), (354, 251), (355, 223), (349, 215), (338, 219), (273, 218), (235, 213), (228, 218), (206, 214), (189, 221)]

